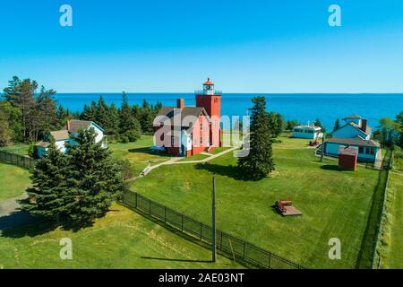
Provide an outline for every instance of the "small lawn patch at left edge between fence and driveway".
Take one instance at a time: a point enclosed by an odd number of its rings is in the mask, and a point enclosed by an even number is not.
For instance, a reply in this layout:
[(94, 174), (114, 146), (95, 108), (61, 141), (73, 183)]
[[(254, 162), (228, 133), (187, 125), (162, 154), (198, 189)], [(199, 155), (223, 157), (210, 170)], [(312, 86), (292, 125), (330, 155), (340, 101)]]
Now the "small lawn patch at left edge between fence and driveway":
[(0, 162), (0, 201), (21, 196), (30, 186), (30, 172)]

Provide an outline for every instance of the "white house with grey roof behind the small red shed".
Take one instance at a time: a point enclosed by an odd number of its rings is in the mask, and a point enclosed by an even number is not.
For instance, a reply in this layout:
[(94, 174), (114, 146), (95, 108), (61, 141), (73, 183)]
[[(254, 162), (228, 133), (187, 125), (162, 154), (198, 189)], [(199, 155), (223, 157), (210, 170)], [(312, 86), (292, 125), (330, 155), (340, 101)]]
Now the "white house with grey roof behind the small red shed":
[(367, 125), (367, 120), (356, 115), (343, 120), (346, 124), (332, 133), (332, 137), (324, 143), (323, 152), (339, 156), (340, 147), (352, 147), (358, 149), (358, 161), (374, 162), (381, 159), (381, 144), (371, 139), (372, 129)]

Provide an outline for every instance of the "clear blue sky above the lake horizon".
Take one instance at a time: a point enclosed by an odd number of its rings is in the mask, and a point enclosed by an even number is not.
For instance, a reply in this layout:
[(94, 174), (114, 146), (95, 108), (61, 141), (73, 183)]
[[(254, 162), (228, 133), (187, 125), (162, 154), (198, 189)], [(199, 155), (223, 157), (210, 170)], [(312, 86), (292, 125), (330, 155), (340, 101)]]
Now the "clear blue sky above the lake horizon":
[(210, 76), (227, 92), (403, 92), (401, 0), (4, 0), (0, 19), (0, 87), (16, 74), (59, 92), (179, 92)]

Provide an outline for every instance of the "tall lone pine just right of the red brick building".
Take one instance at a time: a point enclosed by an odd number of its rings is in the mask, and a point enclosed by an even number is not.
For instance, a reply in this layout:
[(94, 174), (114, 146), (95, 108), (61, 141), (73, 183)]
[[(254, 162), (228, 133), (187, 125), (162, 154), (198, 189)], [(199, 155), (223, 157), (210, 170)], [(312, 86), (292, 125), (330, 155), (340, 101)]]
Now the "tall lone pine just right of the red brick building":
[(238, 169), (244, 177), (258, 180), (267, 177), (274, 170), (274, 162), (266, 99), (255, 97), (252, 101), (250, 135), (245, 139), (249, 147), (244, 145), (238, 159)]

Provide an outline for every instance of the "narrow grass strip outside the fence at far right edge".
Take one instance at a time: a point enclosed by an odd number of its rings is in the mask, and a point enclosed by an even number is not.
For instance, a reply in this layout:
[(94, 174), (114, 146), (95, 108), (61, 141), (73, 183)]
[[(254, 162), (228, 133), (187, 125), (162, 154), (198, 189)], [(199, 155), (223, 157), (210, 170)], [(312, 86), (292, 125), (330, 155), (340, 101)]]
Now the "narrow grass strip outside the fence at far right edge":
[(403, 268), (403, 175), (390, 173), (391, 232), (387, 268)]

